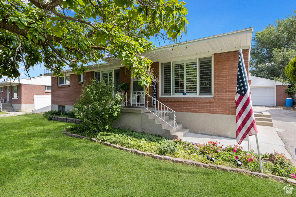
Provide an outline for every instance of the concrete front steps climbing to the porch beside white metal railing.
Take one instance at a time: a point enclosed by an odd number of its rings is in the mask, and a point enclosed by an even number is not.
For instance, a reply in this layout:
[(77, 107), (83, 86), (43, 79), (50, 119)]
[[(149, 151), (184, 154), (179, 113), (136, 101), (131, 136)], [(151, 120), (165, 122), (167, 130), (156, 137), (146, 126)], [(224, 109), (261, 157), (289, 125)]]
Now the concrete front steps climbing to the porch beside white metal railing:
[[(165, 118), (166, 122), (163, 121), (161, 118), (158, 118), (155, 114), (151, 112), (143, 113), (143, 115), (148, 115), (149, 119), (155, 120), (155, 124), (161, 125), (163, 130), (165, 130), (168, 133), (168, 136), (170, 139), (176, 139), (181, 138), (187, 133), (189, 133), (188, 128), (183, 128), (182, 124), (178, 124), (178, 128), (174, 129), (172, 128), (168, 123), (171, 123), (172, 126), (174, 126), (174, 121), (170, 119), (170, 117), (167, 119)], [(163, 118), (164, 119), (164, 118)], [(167, 123), (168, 122), (168, 123)], [(175, 125), (176, 126), (176, 125)]]

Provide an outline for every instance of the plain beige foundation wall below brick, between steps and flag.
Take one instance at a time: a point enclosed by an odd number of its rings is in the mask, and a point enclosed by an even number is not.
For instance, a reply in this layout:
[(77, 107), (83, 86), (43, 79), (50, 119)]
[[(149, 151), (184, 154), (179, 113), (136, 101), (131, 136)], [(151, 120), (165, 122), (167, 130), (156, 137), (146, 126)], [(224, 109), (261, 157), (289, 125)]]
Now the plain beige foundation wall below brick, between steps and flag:
[(236, 138), (235, 115), (176, 112), (176, 122), (190, 133)]

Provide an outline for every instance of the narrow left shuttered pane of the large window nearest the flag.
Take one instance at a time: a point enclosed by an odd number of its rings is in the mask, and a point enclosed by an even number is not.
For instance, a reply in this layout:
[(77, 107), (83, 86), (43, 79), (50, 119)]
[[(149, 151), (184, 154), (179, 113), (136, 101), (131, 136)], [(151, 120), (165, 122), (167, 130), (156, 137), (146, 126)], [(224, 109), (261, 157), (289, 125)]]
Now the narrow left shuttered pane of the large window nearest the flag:
[(170, 62), (163, 63), (161, 66), (161, 80), (162, 80), (162, 88), (161, 95), (170, 95), (171, 92), (171, 66)]

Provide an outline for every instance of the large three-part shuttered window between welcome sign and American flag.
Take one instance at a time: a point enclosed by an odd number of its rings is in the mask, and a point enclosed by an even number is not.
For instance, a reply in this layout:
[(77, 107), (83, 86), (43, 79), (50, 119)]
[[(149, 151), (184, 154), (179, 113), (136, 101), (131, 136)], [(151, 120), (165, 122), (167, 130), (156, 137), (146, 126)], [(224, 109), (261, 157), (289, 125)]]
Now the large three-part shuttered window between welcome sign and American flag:
[(212, 57), (162, 63), (161, 95), (213, 95), (212, 76)]

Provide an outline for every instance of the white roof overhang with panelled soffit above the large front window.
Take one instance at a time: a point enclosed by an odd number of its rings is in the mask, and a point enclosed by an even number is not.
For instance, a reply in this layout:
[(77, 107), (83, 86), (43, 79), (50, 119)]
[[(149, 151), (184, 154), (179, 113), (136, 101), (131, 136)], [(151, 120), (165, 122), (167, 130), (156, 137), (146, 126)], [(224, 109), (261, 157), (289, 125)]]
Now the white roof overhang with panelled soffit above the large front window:
[[(233, 32), (213, 35), (196, 40), (190, 40), (178, 44), (178, 49), (173, 45), (158, 47), (146, 54), (143, 54), (152, 61), (160, 61), (165, 58), (187, 56), (203, 53), (221, 53), (250, 48), (252, 41), (253, 27)], [(187, 45), (187, 46), (186, 46)], [(186, 48), (187, 47), (187, 48)]]

